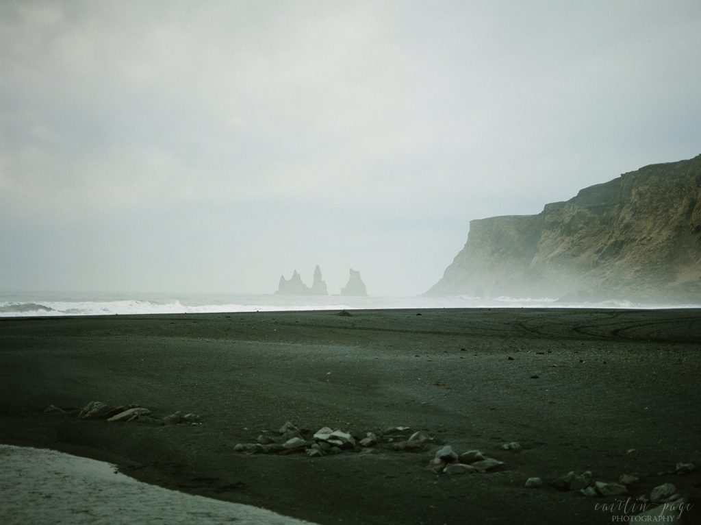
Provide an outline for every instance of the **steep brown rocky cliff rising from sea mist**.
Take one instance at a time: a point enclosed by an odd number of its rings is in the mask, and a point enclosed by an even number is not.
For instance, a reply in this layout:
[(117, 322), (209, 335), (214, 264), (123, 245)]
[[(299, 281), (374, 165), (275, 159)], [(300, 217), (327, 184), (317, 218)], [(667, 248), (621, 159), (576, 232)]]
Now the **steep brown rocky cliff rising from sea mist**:
[(538, 215), (472, 220), (427, 295), (701, 301), (701, 155), (624, 173)]

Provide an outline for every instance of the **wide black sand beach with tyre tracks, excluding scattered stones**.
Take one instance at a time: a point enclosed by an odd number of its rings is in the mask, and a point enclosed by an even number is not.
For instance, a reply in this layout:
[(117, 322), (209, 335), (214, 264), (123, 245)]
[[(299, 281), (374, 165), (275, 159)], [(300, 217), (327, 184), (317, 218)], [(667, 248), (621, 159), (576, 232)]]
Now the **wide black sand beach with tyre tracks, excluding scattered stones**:
[[(547, 486), (570, 470), (601, 481), (646, 474), (632, 496), (665, 481), (701, 492), (699, 470), (657, 474), (701, 465), (700, 310), (351, 313), (1, 319), (0, 442), (111, 460), (142, 481), (319, 524), (611, 523), (594, 505), (615, 498)], [(93, 400), (196, 412), (204, 423), (42, 412)], [(437, 476), (424, 468), (430, 449), (233, 451), (287, 420), (408, 425), (505, 470)], [(502, 450), (508, 441), (524, 450)], [(546, 486), (525, 489), (531, 476)]]

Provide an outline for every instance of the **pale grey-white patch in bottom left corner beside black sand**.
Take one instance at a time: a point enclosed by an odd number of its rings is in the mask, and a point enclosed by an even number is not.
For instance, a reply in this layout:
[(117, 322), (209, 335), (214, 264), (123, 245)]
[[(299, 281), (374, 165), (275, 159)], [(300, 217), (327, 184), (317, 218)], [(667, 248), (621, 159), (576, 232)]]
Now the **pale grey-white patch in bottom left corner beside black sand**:
[(142, 483), (102, 461), (11, 445), (0, 445), (0, 523), (309, 525)]

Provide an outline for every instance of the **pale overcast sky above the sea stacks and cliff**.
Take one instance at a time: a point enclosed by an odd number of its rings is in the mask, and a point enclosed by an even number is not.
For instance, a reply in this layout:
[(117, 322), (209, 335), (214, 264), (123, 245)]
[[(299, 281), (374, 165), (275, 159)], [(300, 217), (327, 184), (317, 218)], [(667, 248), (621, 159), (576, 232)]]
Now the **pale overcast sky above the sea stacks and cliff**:
[(372, 295), (701, 153), (701, 2), (0, 0), (0, 289)]

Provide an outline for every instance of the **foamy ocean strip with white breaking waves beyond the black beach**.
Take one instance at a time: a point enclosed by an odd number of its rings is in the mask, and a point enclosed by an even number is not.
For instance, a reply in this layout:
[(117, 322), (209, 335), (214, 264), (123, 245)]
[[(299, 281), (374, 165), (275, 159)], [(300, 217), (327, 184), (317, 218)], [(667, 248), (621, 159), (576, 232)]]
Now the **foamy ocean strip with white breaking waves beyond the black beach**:
[(559, 303), (554, 298), (483, 299), (451, 297), (346, 297), (237, 293), (116, 293), (0, 291), (0, 317), (75, 315), (273, 312), (285, 310), (374, 310), (386, 308), (671, 308), (699, 305), (643, 305), (629, 301)]

